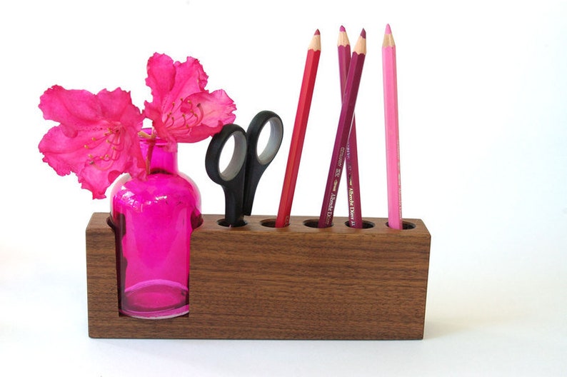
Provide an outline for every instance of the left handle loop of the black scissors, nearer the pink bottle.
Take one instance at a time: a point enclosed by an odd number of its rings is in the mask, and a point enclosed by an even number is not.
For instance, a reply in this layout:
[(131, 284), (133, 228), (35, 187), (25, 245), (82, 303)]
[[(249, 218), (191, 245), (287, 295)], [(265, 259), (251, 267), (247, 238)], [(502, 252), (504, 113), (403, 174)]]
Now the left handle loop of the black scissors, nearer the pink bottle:
[[(231, 138), (234, 138), (234, 151), (231, 161), (221, 171), (221, 154), (226, 142)], [(248, 141), (244, 129), (236, 124), (226, 124), (218, 134), (213, 136), (206, 151), (206, 172), (224, 190), (224, 225), (226, 226), (242, 226), (246, 223), (242, 206), (247, 148)]]

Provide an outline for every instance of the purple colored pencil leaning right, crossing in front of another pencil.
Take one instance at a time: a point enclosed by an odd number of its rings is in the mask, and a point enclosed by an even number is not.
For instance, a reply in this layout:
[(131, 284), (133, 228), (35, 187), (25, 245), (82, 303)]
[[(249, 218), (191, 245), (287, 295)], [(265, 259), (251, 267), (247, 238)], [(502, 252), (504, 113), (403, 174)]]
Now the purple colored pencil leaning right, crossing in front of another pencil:
[(331, 166), (328, 170), (325, 195), (323, 196), (323, 206), (321, 206), (321, 216), (319, 216), (318, 221), (319, 228), (326, 228), (333, 225), (336, 194), (338, 191), (338, 184), (341, 181), (341, 175), (343, 173), (346, 144), (348, 143), (348, 134), (351, 132), (354, 106), (356, 104), (356, 96), (358, 96), (358, 86), (360, 86), (361, 82), (361, 74), (365, 57), (366, 31), (362, 29), (361, 35), (358, 37), (358, 41), (356, 41), (354, 46), (351, 64), (348, 67), (348, 75), (346, 76), (343, 105), (341, 106), (341, 115), (338, 117), (335, 146), (333, 154), (331, 155)]

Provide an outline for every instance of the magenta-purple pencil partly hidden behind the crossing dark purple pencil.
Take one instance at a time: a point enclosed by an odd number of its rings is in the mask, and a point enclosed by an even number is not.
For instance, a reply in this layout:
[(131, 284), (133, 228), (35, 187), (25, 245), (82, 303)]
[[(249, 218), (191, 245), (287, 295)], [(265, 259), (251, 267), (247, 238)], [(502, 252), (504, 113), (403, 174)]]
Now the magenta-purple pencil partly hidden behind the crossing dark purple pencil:
[[(346, 29), (341, 26), (338, 31), (338, 73), (341, 79), (341, 101), (346, 86), (348, 66), (351, 64), (351, 44)], [(353, 116), (351, 134), (346, 144), (346, 192), (348, 195), (348, 225), (351, 228), (362, 228), (360, 178), (358, 175), (358, 148), (356, 146), (356, 117)]]

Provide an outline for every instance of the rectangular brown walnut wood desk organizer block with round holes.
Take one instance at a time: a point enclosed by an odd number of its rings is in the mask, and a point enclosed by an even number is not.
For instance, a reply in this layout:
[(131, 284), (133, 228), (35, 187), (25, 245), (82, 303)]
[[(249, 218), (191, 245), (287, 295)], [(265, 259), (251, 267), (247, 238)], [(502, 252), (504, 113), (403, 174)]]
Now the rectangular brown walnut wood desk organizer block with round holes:
[(311, 228), (226, 228), (205, 215), (191, 238), (186, 316), (136, 319), (118, 311), (108, 213), (86, 228), (89, 336), (93, 338), (421, 339), (430, 234), (421, 220), (396, 231), (386, 218), (354, 229), (334, 218)]

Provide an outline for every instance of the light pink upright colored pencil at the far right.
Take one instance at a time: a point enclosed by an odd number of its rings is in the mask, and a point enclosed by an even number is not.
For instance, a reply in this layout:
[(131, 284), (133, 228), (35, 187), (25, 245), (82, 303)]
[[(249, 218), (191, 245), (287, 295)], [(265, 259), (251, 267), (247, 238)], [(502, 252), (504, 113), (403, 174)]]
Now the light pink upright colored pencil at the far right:
[(388, 186), (388, 226), (401, 229), (400, 138), (398, 129), (398, 79), (396, 44), (390, 25), (386, 25), (382, 44), (384, 124), (386, 129), (386, 181)]

